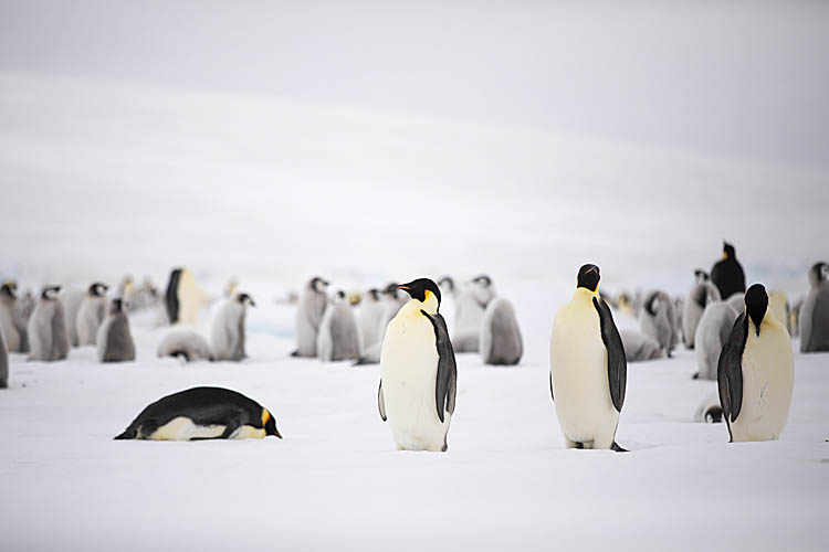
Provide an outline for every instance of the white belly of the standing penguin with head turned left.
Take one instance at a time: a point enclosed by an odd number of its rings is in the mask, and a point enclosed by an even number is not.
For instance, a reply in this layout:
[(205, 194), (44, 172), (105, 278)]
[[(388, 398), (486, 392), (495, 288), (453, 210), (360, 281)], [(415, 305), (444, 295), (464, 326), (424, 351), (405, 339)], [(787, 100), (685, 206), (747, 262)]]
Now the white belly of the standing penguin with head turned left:
[(450, 414), (438, 417), (434, 328), (420, 314), (405, 314), (389, 322), (380, 353), (380, 378), (391, 433), (398, 449), (442, 450)]

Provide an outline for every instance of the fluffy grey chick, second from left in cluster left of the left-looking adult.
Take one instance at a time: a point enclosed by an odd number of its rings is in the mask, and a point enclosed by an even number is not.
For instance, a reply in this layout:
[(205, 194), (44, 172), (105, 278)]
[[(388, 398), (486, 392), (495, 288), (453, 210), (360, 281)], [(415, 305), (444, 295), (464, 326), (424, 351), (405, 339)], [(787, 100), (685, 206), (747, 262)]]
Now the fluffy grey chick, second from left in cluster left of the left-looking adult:
[(360, 357), (357, 319), (343, 290), (334, 294), (319, 322), (316, 354), (323, 362), (357, 360)]

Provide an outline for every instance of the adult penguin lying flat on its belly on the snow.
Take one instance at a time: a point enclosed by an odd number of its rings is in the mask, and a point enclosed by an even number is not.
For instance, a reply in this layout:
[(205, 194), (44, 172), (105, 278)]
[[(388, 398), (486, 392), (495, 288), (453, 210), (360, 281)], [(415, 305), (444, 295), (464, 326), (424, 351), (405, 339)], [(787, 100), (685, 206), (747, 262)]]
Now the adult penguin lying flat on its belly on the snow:
[(116, 439), (203, 440), (282, 438), (261, 404), (222, 388), (193, 388), (159, 399)]

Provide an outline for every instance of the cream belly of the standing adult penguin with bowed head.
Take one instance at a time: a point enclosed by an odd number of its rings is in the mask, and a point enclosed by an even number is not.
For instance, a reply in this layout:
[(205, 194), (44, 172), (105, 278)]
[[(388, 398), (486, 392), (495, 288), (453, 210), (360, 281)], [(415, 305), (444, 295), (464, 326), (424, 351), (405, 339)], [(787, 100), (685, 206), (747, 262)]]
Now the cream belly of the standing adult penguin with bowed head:
[(731, 424), (735, 442), (776, 440), (786, 426), (795, 385), (795, 361), (788, 332), (764, 323), (758, 338), (749, 331), (743, 351), (743, 405)]

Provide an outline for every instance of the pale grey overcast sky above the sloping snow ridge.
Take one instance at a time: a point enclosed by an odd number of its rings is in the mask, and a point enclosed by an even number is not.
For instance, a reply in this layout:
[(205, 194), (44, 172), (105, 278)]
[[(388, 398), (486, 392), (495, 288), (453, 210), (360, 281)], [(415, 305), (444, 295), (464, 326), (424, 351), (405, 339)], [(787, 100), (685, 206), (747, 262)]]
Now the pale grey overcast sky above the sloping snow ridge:
[(829, 2), (444, 3), (0, 1), (0, 70), (829, 171)]

